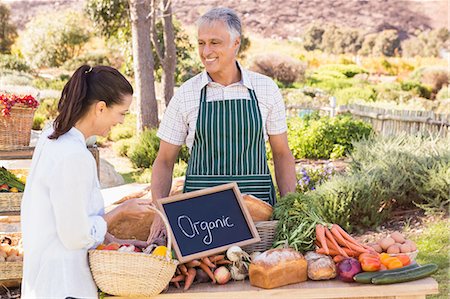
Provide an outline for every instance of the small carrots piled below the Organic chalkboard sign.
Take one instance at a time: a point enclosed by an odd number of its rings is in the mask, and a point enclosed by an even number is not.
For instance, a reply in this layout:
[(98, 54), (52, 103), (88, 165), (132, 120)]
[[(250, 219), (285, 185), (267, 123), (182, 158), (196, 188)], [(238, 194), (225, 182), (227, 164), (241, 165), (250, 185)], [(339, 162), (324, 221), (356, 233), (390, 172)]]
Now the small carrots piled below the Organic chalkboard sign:
[(177, 270), (170, 280), (176, 288), (180, 288), (180, 282), (184, 282), (184, 290), (188, 290), (195, 278), (198, 282), (216, 283), (214, 270), (220, 265), (232, 264), (231, 261), (225, 259), (224, 254), (213, 255), (201, 259), (192, 260), (190, 262), (179, 264)]

